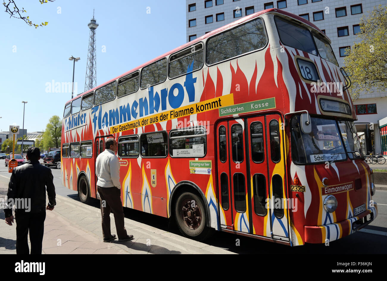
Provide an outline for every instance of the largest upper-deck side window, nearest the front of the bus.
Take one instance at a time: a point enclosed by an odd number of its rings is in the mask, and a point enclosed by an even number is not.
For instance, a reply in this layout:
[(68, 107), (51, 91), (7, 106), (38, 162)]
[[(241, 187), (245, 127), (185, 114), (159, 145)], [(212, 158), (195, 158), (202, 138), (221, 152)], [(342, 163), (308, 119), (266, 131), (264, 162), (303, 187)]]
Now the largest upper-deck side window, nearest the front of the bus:
[(208, 65), (264, 48), (267, 44), (264, 22), (254, 19), (208, 39), (206, 62)]

